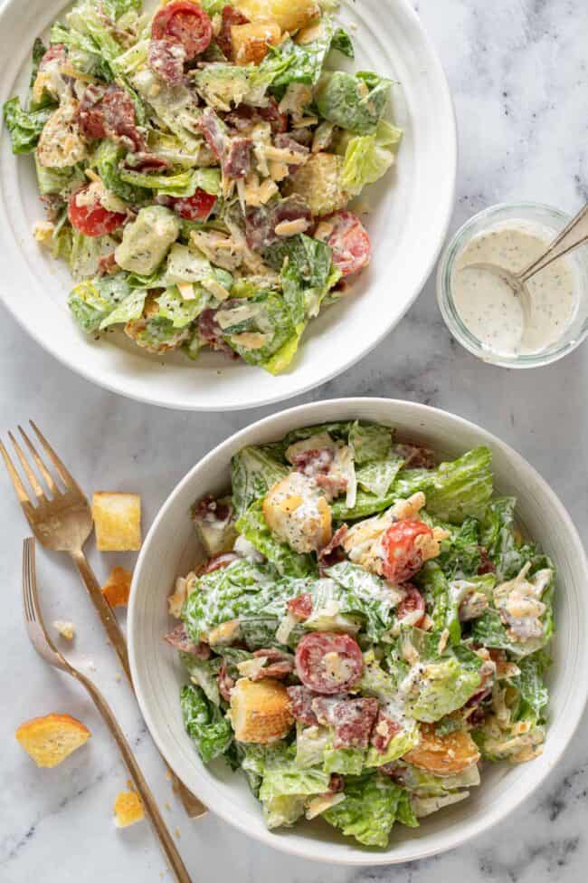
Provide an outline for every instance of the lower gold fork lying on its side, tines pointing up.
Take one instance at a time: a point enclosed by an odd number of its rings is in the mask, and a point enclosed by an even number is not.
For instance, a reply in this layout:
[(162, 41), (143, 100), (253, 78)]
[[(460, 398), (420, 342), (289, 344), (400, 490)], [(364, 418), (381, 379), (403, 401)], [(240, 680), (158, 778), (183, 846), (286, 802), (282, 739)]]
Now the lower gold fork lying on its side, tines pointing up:
[(175, 873), (178, 883), (191, 883), (185, 864), (175, 847), (172, 835), (166, 828), (166, 823), (161, 817), (161, 813), (157, 809), (156, 800), (147, 785), (141, 773), (138, 763), (130, 750), (130, 746), (119, 727), (116, 717), (112, 714), (104, 696), (100, 693), (98, 687), (78, 671), (77, 668), (71, 666), (65, 657), (58, 651), (52, 642), (52, 639), (45, 629), (41, 607), (39, 605), (39, 596), (37, 593), (37, 581), (34, 566), (34, 540), (33, 537), (27, 537), (23, 544), (23, 610), (24, 623), (28, 636), (33, 644), (33, 648), (39, 656), (43, 657), (53, 668), (59, 668), (61, 671), (67, 672), (71, 677), (75, 677), (77, 681), (85, 686), (90, 694), (94, 705), (98, 708), (104, 723), (108, 726), (110, 733), (114, 736), (116, 743), (119, 745), (119, 751), (122, 759), (128, 769), (128, 773), (135, 785), (143, 806), (147, 812), (147, 817), (156, 832), (157, 839), (164, 850), (166, 859)]

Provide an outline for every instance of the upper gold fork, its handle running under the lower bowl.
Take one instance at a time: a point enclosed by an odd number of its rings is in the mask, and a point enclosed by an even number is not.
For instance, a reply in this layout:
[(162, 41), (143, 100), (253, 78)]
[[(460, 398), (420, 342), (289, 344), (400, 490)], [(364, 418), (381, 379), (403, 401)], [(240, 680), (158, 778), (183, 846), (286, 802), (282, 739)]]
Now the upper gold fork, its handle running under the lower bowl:
[[(104, 598), (100, 590), (100, 583), (96, 579), (94, 572), (90, 568), (88, 559), (83, 552), (84, 542), (90, 536), (92, 531), (92, 514), (90, 504), (85, 494), (77, 484), (71, 472), (62, 463), (62, 460), (52, 449), (47, 439), (43, 436), (41, 430), (36, 427), (33, 420), (30, 421), (33, 430), (43, 446), (45, 455), (51, 461), (53, 468), (62, 482), (65, 490), (62, 490), (56, 480), (53, 478), (47, 465), (43, 462), (33, 442), (24, 432), (23, 427), (18, 430), (23, 437), (24, 444), (33, 458), (33, 462), (39, 470), (43, 481), (50, 493), (51, 499), (47, 496), (45, 490), (39, 482), (37, 475), (33, 471), (22, 447), (18, 444), (12, 432), (8, 433), (13, 443), (16, 456), (23, 467), (29, 484), (33, 488), (36, 497), (36, 504), (33, 505), (29, 495), (27, 494), (20, 475), (16, 471), (5, 446), (0, 441), (0, 453), (5, 459), (6, 469), (10, 475), (18, 499), (23, 506), (24, 514), (37, 540), (47, 549), (54, 552), (67, 552), (72, 561), (75, 563), (78, 571), (80, 571), (81, 579), (88, 590), (90, 600), (98, 613), (102, 625), (106, 629), (109, 641), (116, 650), (119, 657), (120, 665), (123, 668), (131, 689), (134, 690), (133, 682), (130, 677), (130, 667), (128, 665), (128, 652), (125, 637), (119, 627), (117, 618), (115, 617), (108, 601)], [(206, 807), (204, 803), (198, 800), (194, 794), (185, 787), (183, 782), (177, 778), (173, 771), (169, 770), (175, 791), (179, 794), (185, 811), (191, 819), (204, 815)]]

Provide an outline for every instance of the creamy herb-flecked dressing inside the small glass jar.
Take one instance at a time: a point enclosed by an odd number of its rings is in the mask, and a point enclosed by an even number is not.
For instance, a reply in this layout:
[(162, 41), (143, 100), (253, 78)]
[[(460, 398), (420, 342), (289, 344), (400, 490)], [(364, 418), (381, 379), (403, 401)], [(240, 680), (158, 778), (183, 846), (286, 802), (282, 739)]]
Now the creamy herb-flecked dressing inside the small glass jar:
[(535, 261), (552, 235), (523, 221), (490, 227), (475, 236), (458, 255), (451, 272), (453, 302), (461, 321), (478, 340), (503, 356), (546, 350), (574, 320), (578, 280), (563, 257), (530, 279), (530, 321), (519, 298), (498, 275), (468, 264), (499, 264), (517, 273)]

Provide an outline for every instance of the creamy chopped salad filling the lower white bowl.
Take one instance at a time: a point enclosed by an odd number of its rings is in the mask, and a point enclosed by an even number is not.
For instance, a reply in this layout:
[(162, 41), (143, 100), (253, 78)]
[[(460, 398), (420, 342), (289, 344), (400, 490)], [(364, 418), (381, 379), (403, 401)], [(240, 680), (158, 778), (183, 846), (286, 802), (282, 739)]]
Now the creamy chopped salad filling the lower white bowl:
[(494, 493), (487, 446), (440, 460), (325, 423), (242, 447), (230, 492), (194, 504), (204, 557), (166, 636), (185, 731), (271, 830), (321, 818), (385, 848), (487, 764), (543, 751), (555, 566)]

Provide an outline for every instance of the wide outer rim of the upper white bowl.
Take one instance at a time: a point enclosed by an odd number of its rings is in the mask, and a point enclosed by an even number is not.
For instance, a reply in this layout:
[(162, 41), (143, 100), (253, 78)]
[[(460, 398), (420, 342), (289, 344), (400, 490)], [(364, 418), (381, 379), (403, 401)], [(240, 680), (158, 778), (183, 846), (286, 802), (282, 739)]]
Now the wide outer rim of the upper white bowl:
[[(441, 248), (443, 247), (445, 240), (447, 238), (447, 233), (450, 226), (450, 220), (453, 213), (453, 206), (455, 203), (455, 192), (456, 192), (456, 183), (457, 183), (457, 166), (458, 166), (458, 129), (457, 129), (457, 119), (455, 113), (455, 106), (453, 102), (453, 98), (450, 91), (449, 82), (447, 80), (447, 76), (444, 72), (443, 66), (441, 64), (441, 59), (437, 50), (432, 43), (429, 34), (422, 23), (420, 16), (414, 11), (413, 6), (410, 5), (410, 0), (384, 0), (384, 3), (394, 4), (400, 7), (402, 14), (405, 20), (411, 24), (413, 28), (416, 28), (420, 35), (420, 40), (422, 41), (422, 45), (426, 50), (426, 60), (427, 67), (431, 72), (432, 81), (435, 82), (435, 88), (437, 91), (437, 95), (439, 100), (442, 102), (444, 108), (446, 109), (446, 131), (445, 135), (447, 138), (447, 149), (444, 151), (444, 165), (445, 169), (443, 175), (441, 176), (441, 180), (443, 183), (443, 200), (444, 205), (442, 206), (442, 210), (439, 211), (438, 214), (438, 230), (437, 230), (437, 245), (431, 249), (428, 260), (422, 262), (420, 265), (420, 269), (415, 271), (415, 279), (416, 282), (413, 284), (413, 291), (403, 303), (403, 308), (401, 312), (398, 313), (394, 322), (391, 323), (375, 323), (375, 333), (369, 338), (365, 337), (364, 342), (362, 343), (359, 350), (343, 359), (336, 368), (326, 368), (325, 370), (315, 371), (314, 377), (312, 379), (308, 379), (302, 383), (296, 385), (293, 383), (291, 389), (279, 390), (276, 387), (276, 391), (273, 391), (273, 388), (270, 390), (270, 394), (263, 395), (261, 398), (247, 398), (243, 400), (239, 394), (235, 392), (228, 392), (223, 396), (223, 398), (219, 397), (218, 399), (213, 399), (212, 401), (199, 402), (197, 400), (193, 400), (192, 398), (182, 393), (180, 398), (174, 398), (173, 396), (168, 396), (167, 394), (161, 394), (159, 389), (157, 391), (150, 391), (148, 383), (144, 383), (144, 381), (137, 382), (134, 377), (127, 377), (127, 373), (125, 370), (118, 370), (116, 372), (105, 373), (104, 370), (100, 368), (100, 366), (96, 366), (94, 364), (86, 365), (83, 359), (77, 358), (79, 353), (78, 350), (75, 352), (71, 352), (67, 347), (62, 349), (61, 346), (55, 345), (53, 343), (52, 336), (43, 335), (43, 331), (39, 327), (35, 327), (31, 325), (30, 322), (27, 322), (24, 313), (19, 311), (17, 308), (16, 302), (13, 302), (10, 297), (5, 296), (5, 286), (0, 285), (0, 302), (2, 302), (5, 306), (5, 309), (11, 314), (14, 318), (15, 322), (35, 341), (39, 344), (42, 349), (49, 353), (53, 358), (57, 359), (64, 368), (68, 370), (72, 370), (74, 373), (81, 376), (83, 379), (90, 381), (91, 383), (96, 384), (101, 389), (107, 389), (110, 392), (117, 393), (124, 398), (129, 398), (134, 401), (144, 402), (149, 405), (154, 405), (159, 408), (170, 408), (173, 410), (185, 410), (185, 411), (194, 411), (194, 412), (216, 412), (216, 411), (226, 411), (230, 410), (243, 410), (247, 408), (261, 408), (267, 405), (277, 404), (282, 401), (287, 401), (290, 398), (295, 398), (299, 395), (303, 395), (311, 389), (316, 389), (323, 383), (327, 383), (328, 381), (334, 379), (339, 374), (344, 373), (346, 370), (349, 370), (357, 362), (364, 359), (372, 350), (375, 349), (378, 344), (380, 344), (384, 338), (390, 334), (394, 328), (402, 321), (403, 316), (408, 312), (408, 310), (413, 306), (413, 303), (416, 301), (418, 296), (422, 293), (422, 289), (429, 279), (429, 276), (432, 274), (432, 271), (437, 263), (439, 255), (441, 254)], [(62, 0), (63, 7), (66, 7), (71, 4), (68, 3), (68, 0)], [(10, 14), (10, 10), (16, 5), (16, 0), (5, 0), (4, 3), (0, 3), (0, 23), (4, 22), (5, 16)], [(3, 139), (5, 139), (6, 133), (5, 130), (1, 133)], [(0, 239), (0, 242), (2, 240)], [(22, 260), (24, 260), (24, 255), (20, 254)], [(323, 360), (325, 365), (328, 365), (328, 360)], [(250, 366), (243, 366), (245, 370), (248, 370)], [(259, 369), (262, 370), (262, 369)], [(294, 370), (296, 373), (296, 369)], [(255, 387), (255, 375), (251, 373), (251, 380), (248, 384), (249, 389), (254, 389)], [(230, 399), (227, 403), (224, 399)]]

